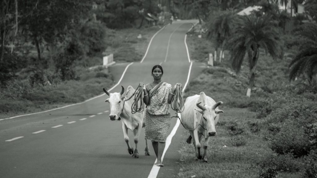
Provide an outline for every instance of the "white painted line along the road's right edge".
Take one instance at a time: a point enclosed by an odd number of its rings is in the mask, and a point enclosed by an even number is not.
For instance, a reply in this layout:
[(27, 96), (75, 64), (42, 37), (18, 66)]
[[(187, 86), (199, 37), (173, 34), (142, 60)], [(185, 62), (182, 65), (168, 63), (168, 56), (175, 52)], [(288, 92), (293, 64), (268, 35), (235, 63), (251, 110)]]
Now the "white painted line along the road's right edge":
[[(191, 27), (191, 28), (192, 28), (192, 27)], [(185, 39), (186, 39), (186, 35), (185, 35)], [(185, 44), (186, 44), (186, 41), (185, 41)], [(188, 52), (187, 45), (185, 45), (185, 46), (186, 46), (186, 50), (187, 50), (187, 52)], [(190, 61), (189, 53), (187, 53), (187, 55), (188, 55), (188, 59), (189, 59), (189, 61)], [(188, 81), (189, 81), (189, 78), (190, 78), (190, 74), (191, 74), (191, 66), (192, 66), (192, 65), (193, 65), (193, 62), (191, 61), (191, 65), (189, 66), (189, 71), (188, 71), (188, 75), (187, 75), (187, 80), (186, 80), (186, 83), (185, 83), (185, 85), (184, 85), (184, 88), (183, 88), (182, 92), (185, 91), (185, 88), (186, 88), (186, 86), (187, 86), (187, 84), (188, 84)], [(178, 114), (178, 117), (181, 118), (181, 115)], [(170, 135), (168, 135), (167, 138), (166, 138), (165, 149), (164, 149), (164, 151), (163, 151), (163, 155), (162, 155), (162, 158), (161, 158), (162, 161), (163, 161), (163, 158), (164, 158), (164, 156), (165, 156), (166, 150), (168, 149), (168, 147), (169, 147), (170, 144), (171, 144), (171, 140), (172, 140), (173, 136), (176, 134), (176, 131), (177, 131), (177, 129), (178, 129), (179, 124), (180, 124), (180, 121), (179, 121), (179, 119), (177, 119), (176, 124), (175, 124), (173, 130), (171, 131)], [(155, 162), (156, 162), (156, 161), (157, 161), (157, 160), (155, 159)], [(156, 178), (156, 177), (157, 177), (157, 175), (158, 175), (158, 173), (159, 173), (159, 169), (160, 169), (161, 167), (156, 166), (156, 165), (155, 165), (155, 162), (154, 162), (154, 164), (153, 164), (153, 166), (152, 166), (152, 169), (151, 169), (151, 171), (150, 171), (150, 174), (149, 174), (149, 176), (148, 176), (147, 178)]]

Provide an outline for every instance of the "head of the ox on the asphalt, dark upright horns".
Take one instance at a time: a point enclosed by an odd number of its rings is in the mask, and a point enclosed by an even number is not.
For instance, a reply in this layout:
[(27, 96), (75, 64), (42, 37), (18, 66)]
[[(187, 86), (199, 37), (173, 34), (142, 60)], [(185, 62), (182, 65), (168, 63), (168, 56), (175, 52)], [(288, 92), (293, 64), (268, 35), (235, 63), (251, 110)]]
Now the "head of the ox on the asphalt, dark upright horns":
[(120, 114), (123, 110), (123, 103), (125, 100), (126, 93), (124, 92), (124, 87), (122, 87), (122, 90), (120, 93), (109, 93), (105, 88), (103, 88), (103, 91), (109, 96), (108, 99), (105, 100), (105, 102), (109, 102), (110, 105), (110, 114), (109, 119), (110, 120), (118, 120), (120, 117)]

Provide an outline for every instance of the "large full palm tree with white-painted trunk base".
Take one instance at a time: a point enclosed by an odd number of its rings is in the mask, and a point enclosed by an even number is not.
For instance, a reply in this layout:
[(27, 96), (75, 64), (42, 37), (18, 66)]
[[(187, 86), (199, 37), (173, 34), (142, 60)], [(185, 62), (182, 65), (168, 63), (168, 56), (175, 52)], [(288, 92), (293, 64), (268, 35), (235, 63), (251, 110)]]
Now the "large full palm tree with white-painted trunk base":
[(276, 22), (271, 16), (242, 16), (237, 21), (233, 37), (228, 41), (231, 48), (232, 67), (238, 73), (245, 54), (248, 54), (250, 69), (249, 86), (247, 96), (251, 95), (251, 88), (254, 86), (256, 76), (256, 64), (259, 59), (260, 48), (276, 58), (280, 52), (279, 33)]

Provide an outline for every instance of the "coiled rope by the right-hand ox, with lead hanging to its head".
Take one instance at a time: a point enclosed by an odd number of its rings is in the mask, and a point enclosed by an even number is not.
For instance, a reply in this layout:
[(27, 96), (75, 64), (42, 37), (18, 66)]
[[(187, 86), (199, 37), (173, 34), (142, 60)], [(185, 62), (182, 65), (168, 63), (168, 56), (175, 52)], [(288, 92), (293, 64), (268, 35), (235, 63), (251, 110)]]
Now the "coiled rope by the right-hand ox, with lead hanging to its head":
[[(181, 113), (181, 112), (184, 111), (184, 100), (183, 100), (183, 98), (182, 98), (182, 90), (181, 90), (181, 84), (180, 84), (180, 83), (177, 83), (177, 84), (176, 84), (175, 95), (173, 96), (173, 99), (172, 99), (172, 101), (171, 101), (171, 108), (172, 108), (172, 110), (176, 111), (176, 113), (175, 113), (176, 116), (173, 116), (173, 117), (171, 117), (171, 118), (178, 118), (179, 121), (180, 121), (180, 123), (183, 125), (183, 127), (184, 127), (186, 130), (190, 130), (190, 131), (191, 131), (191, 130), (197, 129), (199, 125), (202, 126), (202, 125), (201, 125), (201, 121), (202, 121), (202, 119), (203, 119), (203, 115), (202, 115), (202, 117), (200, 118), (199, 124), (198, 124), (197, 127), (194, 128), (194, 129), (188, 129), (188, 128), (183, 124), (182, 120), (179, 118), (178, 113)], [(203, 126), (202, 126), (202, 127), (203, 127)], [(203, 127), (203, 128), (204, 128), (204, 127)], [(205, 129), (205, 128), (204, 128), (204, 129)], [(205, 129), (205, 130), (206, 130), (206, 129)]]

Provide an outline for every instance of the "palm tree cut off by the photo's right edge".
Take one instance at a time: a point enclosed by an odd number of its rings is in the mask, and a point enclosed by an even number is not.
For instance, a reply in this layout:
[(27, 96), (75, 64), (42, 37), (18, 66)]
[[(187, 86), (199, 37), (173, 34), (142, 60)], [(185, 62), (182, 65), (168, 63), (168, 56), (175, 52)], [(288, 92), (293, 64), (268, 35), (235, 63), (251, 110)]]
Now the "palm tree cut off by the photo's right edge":
[(293, 80), (306, 73), (309, 81), (317, 72), (317, 24), (306, 23), (295, 35), (300, 40), (300, 50), (289, 64), (289, 79)]

